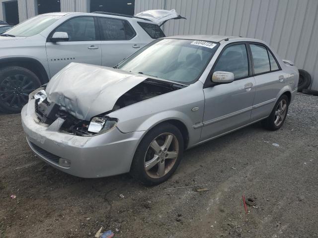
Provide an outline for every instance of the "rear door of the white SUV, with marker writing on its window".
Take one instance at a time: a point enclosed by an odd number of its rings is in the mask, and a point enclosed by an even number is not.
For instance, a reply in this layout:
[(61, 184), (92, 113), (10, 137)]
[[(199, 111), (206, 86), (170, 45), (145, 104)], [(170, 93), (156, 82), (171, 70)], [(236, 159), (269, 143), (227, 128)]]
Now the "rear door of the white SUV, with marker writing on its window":
[(124, 19), (97, 17), (102, 49), (102, 65), (115, 66), (140, 49), (140, 40)]

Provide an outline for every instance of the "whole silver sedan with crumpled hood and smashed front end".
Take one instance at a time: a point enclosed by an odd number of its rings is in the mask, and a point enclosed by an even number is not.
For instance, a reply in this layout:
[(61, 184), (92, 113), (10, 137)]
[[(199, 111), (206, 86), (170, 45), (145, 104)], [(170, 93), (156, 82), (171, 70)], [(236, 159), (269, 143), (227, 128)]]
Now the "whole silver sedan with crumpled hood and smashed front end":
[(185, 149), (257, 121), (279, 129), (298, 79), (293, 62), (260, 40), (166, 37), (114, 68), (69, 64), (29, 95), (22, 125), (31, 149), (59, 170), (158, 184)]

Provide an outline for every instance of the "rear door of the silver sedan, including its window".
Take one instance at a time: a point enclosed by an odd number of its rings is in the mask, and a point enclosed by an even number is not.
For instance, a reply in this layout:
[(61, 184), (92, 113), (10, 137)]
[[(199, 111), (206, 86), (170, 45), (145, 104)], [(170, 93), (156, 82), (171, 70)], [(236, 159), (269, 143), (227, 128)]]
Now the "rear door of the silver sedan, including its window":
[(265, 45), (249, 43), (249, 49), (256, 82), (251, 119), (258, 120), (271, 113), (288, 75), (281, 70), (277, 60)]

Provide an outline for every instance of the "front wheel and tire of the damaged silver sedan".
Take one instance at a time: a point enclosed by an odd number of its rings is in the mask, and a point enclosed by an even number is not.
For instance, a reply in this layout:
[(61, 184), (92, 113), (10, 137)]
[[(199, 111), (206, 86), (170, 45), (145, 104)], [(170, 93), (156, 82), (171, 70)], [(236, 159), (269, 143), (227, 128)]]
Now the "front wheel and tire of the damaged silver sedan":
[(140, 142), (130, 174), (145, 185), (162, 183), (177, 169), (183, 148), (183, 137), (176, 126), (170, 123), (157, 125)]

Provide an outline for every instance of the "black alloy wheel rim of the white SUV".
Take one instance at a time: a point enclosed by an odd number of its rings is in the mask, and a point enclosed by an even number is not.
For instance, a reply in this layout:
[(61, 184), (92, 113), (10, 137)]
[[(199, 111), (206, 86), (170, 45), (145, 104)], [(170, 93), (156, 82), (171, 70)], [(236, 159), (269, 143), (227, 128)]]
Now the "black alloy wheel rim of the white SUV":
[(29, 98), (29, 94), (37, 87), (32, 79), (26, 75), (10, 75), (0, 84), (0, 100), (10, 108), (22, 108)]

